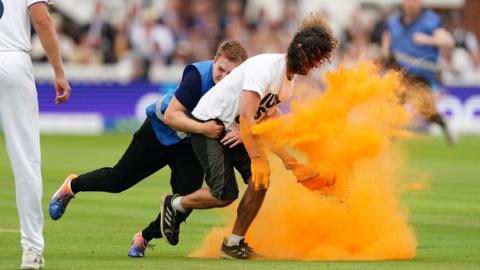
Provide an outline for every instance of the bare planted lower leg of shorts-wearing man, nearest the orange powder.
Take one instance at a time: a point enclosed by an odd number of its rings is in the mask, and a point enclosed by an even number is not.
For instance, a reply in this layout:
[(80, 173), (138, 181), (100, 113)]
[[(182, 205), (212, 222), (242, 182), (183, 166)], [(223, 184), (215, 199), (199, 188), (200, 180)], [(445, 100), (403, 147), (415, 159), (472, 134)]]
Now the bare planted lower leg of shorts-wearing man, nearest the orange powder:
[(240, 236), (244, 236), (247, 233), (248, 228), (262, 206), (267, 192), (265, 189), (255, 190), (251, 179), (248, 182), (247, 190), (245, 194), (243, 194), (242, 200), (237, 208), (237, 219), (235, 220), (232, 231), (233, 234)]

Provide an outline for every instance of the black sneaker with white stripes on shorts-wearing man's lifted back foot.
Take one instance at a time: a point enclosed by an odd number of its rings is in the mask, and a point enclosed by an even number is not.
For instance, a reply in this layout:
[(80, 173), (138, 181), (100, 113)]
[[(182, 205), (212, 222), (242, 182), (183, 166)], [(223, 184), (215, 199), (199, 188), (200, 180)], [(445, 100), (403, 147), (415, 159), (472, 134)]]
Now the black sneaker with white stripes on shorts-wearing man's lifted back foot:
[(172, 200), (178, 194), (164, 195), (161, 200), (160, 210), (160, 231), (163, 238), (170, 244), (178, 244), (178, 235), (180, 234), (180, 222), (177, 221), (177, 215), (180, 213), (172, 206)]

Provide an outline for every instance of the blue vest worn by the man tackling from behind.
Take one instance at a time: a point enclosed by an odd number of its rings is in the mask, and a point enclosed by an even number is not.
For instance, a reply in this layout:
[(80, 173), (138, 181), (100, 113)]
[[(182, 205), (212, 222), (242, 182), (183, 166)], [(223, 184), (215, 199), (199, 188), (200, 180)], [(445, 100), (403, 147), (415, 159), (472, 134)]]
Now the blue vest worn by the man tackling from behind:
[[(187, 65), (183, 70), (183, 75), (185, 75), (185, 73), (192, 68), (196, 69), (200, 74), (203, 96), (215, 85), (212, 78), (213, 61), (202, 61)], [(148, 106), (146, 110), (147, 117), (152, 124), (155, 135), (163, 145), (172, 145), (187, 137), (185, 132), (176, 131), (163, 122), (165, 111), (167, 110), (168, 104), (170, 104), (170, 101), (174, 95), (175, 91), (166, 93), (157, 102)]]

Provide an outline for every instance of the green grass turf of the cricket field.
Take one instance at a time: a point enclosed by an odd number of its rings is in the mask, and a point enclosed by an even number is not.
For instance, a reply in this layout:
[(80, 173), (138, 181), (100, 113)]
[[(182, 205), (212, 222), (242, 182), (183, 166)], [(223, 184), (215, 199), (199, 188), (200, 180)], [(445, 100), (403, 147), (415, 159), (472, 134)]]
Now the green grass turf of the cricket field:
[[(2, 137), (3, 140), (3, 137)], [(409, 171), (429, 171), (430, 188), (409, 192), (402, 202), (419, 242), (406, 261), (298, 262), (226, 261), (188, 258), (209, 228), (215, 210), (197, 211), (183, 226), (176, 247), (154, 240), (144, 259), (127, 258), (136, 231), (156, 217), (159, 195), (169, 191), (168, 169), (122, 194), (82, 193), (60, 221), (48, 217), (48, 201), (66, 174), (111, 166), (130, 135), (43, 136), (42, 158), (46, 269), (480, 269), (480, 138), (464, 137), (451, 148), (441, 139), (402, 142)], [(18, 217), (14, 181), (0, 144), (0, 269), (18, 269)]]

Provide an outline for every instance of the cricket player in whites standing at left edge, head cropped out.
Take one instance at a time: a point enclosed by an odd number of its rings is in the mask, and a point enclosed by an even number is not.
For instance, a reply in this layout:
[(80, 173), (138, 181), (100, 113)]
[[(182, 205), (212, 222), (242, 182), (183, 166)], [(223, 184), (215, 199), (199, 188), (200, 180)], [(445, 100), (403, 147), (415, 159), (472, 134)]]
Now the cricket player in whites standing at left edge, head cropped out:
[(68, 100), (55, 27), (47, 0), (0, 0), (0, 122), (15, 177), (22, 269), (43, 266), (42, 177), (38, 101), (30, 59), (30, 19), (55, 72), (57, 104)]

